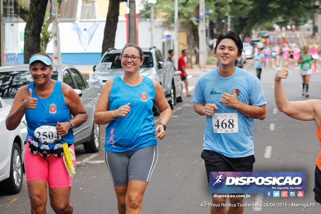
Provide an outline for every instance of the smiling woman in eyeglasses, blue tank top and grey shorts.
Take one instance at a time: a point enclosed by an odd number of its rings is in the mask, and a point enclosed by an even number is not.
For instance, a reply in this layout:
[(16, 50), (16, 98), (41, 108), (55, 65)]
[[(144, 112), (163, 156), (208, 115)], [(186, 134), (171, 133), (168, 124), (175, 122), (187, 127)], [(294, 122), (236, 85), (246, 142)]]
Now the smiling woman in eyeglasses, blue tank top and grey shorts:
[[(124, 75), (106, 81), (94, 118), (97, 124), (108, 124), (105, 161), (118, 212), (142, 213), (143, 195), (158, 156), (156, 139), (165, 137), (172, 111), (162, 86), (139, 74), (144, 58), (138, 45), (126, 44), (120, 60)], [(160, 112), (155, 129), (153, 105)]]

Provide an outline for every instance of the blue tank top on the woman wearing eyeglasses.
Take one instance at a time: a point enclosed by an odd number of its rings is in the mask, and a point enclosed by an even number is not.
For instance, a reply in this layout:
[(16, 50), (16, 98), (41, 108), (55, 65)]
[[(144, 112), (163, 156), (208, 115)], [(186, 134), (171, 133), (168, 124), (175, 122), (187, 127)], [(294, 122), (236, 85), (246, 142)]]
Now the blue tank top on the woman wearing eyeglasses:
[(143, 77), (137, 86), (128, 86), (120, 76), (114, 77), (109, 94), (108, 110), (116, 110), (130, 103), (130, 112), (117, 117), (106, 127), (105, 149), (109, 152), (133, 151), (156, 145), (152, 107), (155, 87), (152, 80)]

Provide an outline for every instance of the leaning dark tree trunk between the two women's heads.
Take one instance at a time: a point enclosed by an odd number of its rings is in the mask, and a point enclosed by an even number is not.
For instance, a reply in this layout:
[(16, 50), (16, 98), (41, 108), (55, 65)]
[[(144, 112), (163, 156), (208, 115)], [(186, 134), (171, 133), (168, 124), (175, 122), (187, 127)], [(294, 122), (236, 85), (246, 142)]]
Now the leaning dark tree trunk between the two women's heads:
[(101, 56), (110, 47), (115, 46), (115, 36), (119, 16), (119, 0), (110, 0), (106, 18), (104, 40), (102, 41)]

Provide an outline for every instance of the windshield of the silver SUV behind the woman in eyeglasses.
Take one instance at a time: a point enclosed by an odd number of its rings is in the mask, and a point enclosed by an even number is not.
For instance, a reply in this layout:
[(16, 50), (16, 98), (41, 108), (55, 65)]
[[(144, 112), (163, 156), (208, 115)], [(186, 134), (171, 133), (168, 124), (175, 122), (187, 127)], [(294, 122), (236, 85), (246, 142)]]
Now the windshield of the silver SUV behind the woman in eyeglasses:
[[(144, 62), (141, 68), (150, 68), (153, 67), (153, 58), (151, 52), (143, 52)], [(106, 54), (101, 60), (101, 63), (111, 63), (110, 68), (122, 68), (121, 61), (119, 60), (120, 53), (117, 54)]]

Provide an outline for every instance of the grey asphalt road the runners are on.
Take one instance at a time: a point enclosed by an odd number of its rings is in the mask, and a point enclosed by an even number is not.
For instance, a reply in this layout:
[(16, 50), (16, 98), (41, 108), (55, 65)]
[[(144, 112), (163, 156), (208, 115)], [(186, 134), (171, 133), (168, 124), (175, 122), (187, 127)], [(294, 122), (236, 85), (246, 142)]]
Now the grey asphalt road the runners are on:
[[(244, 68), (254, 73), (251, 60)], [(255, 157), (254, 171), (303, 171), (307, 175), (307, 191), (304, 197), (274, 198), (263, 194), (251, 194), (244, 199), (247, 204), (262, 207), (246, 207), (244, 213), (320, 213), (321, 207), (314, 201), (314, 169), (320, 143), (317, 128), (312, 121), (298, 121), (279, 112), (274, 103), (273, 79), (276, 69), (263, 70), (261, 83), (267, 100), (267, 117), (254, 124)], [(203, 71), (189, 71), (190, 92), (193, 94), (196, 81)], [(291, 68), (288, 79), (283, 81), (288, 99), (304, 100), (301, 96), (299, 69)], [(321, 73), (310, 78), (309, 99), (321, 99)], [(205, 117), (197, 115), (192, 107), (192, 98), (183, 97), (173, 110), (166, 137), (159, 141), (159, 157), (150, 184), (143, 200), (143, 213), (151, 214), (202, 214), (211, 202), (208, 191), (204, 161), (201, 159)], [(155, 123), (158, 118), (155, 117)], [(76, 150), (76, 175), (71, 191), (74, 213), (117, 213), (116, 197), (104, 162), (104, 128), (101, 126), (101, 148), (98, 153), (87, 154), (82, 145)], [(23, 181), (22, 191), (16, 195), (1, 195), (0, 213), (30, 213), (27, 185)], [(295, 203), (301, 207), (273, 207), (276, 203)], [(312, 203), (312, 207), (304, 204)], [(313, 207), (315, 203), (315, 207)], [(264, 205), (271, 205), (266, 207)], [(48, 214), (54, 213), (47, 203)]]

